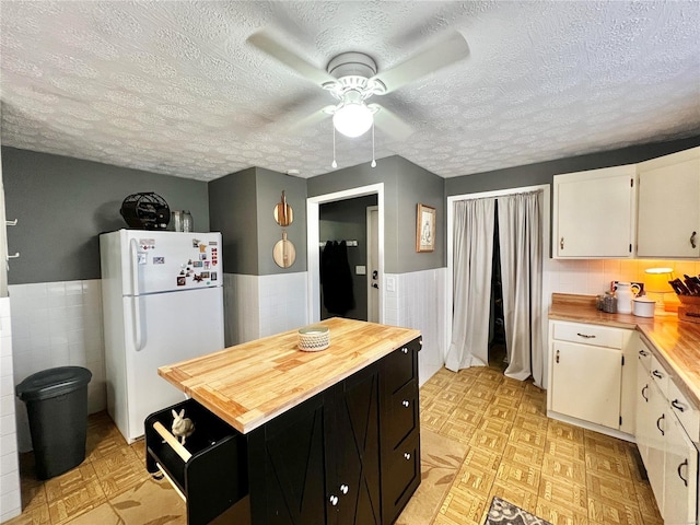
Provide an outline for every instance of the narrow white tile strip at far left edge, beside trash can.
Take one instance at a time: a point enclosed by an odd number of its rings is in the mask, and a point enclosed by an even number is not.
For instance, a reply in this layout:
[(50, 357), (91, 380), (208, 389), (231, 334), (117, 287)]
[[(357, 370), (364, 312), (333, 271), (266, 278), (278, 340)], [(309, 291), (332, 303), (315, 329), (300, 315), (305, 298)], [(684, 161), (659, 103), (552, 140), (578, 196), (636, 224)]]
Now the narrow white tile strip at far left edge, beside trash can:
[(0, 298), (0, 522), (22, 512), (10, 299)]

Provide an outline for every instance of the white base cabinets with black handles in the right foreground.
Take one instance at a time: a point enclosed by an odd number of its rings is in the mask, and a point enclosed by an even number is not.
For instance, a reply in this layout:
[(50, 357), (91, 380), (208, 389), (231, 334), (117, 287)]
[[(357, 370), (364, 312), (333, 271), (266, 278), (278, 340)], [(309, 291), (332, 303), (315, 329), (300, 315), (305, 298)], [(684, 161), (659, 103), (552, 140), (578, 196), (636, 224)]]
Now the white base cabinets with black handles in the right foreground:
[(700, 411), (640, 342), (637, 445), (665, 523), (697, 523)]

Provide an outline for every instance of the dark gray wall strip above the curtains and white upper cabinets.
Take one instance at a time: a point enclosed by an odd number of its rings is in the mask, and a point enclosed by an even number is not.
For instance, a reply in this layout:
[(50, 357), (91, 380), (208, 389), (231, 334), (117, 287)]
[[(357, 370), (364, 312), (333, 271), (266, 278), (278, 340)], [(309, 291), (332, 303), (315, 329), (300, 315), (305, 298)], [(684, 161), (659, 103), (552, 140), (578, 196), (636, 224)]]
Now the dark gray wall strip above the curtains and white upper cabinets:
[(453, 195), (551, 184), (553, 176), (558, 174), (634, 164), (697, 145), (700, 145), (700, 136), (669, 142), (632, 145), (620, 150), (558, 159), (556, 161), (527, 164), (475, 175), (464, 175), (462, 177), (445, 179), (445, 195), (450, 197)]

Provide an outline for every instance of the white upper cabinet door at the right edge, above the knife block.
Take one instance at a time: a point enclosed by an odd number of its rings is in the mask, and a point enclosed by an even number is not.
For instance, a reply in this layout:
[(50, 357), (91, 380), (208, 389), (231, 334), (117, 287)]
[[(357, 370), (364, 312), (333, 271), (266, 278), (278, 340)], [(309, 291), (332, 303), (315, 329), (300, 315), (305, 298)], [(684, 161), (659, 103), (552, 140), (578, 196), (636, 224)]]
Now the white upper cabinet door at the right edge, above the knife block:
[(637, 168), (638, 257), (700, 257), (700, 148)]

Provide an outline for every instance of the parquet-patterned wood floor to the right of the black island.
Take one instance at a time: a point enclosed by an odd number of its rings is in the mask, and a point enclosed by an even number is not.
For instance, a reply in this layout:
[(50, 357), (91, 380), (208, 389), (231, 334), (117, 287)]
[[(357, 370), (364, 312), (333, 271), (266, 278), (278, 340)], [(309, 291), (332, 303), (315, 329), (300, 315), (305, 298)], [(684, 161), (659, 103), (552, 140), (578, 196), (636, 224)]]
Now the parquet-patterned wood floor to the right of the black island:
[(494, 495), (553, 525), (663, 524), (637, 446), (547, 418), (532, 383), (443, 369), (420, 394), (421, 429), (468, 444), (434, 525), (481, 525)]

